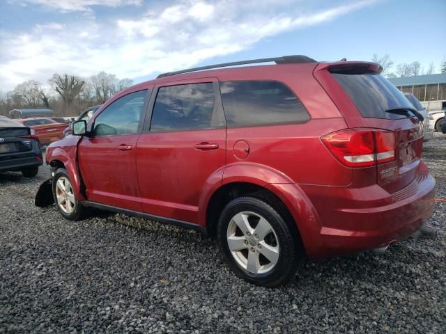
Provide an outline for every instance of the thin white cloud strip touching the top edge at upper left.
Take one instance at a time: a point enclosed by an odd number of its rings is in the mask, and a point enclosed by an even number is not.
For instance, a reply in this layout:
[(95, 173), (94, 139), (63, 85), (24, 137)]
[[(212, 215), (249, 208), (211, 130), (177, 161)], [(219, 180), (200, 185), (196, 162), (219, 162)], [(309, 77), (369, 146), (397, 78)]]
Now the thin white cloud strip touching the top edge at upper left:
[(119, 7), (140, 5), (142, 0), (24, 0), (24, 2), (69, 12), (73, 10), (90, 10), (91, 6)]

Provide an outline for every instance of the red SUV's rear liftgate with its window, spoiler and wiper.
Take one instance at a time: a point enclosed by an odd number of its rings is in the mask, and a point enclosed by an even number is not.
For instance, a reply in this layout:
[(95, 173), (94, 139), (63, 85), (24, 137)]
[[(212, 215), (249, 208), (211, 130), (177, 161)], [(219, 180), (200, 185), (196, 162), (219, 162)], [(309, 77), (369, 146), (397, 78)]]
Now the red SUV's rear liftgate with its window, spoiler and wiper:
[(377, 170), (377, 183), (392, 193), (417, 177), (423, 132), (413, 105), (377, 67), (370, 63), (323, 64), (316, 68), (315, 76), (344, 113), (348, 127), (394, 132), (396, 161), (378, 165)]

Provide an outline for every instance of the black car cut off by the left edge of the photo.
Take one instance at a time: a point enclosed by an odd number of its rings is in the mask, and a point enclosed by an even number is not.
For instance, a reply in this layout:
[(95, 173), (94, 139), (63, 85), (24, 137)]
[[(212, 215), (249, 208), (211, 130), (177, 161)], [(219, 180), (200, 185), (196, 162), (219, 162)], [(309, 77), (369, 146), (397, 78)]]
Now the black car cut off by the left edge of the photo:
[(21, 171), (25, 177), (34, 177), (42, 164), (34, 130), (0, 116), (0, 172)]

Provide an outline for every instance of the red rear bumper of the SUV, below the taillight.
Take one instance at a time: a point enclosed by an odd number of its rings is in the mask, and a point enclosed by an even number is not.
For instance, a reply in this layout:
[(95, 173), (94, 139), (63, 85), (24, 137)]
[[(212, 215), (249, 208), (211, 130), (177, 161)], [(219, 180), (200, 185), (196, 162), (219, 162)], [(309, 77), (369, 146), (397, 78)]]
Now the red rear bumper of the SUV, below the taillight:
[[(355, 198), (350, 201), (346, 198), (351, 196), (351, 189), (344, 198), (337, 198), (338, 202), (321, 203), (319, 198), (314, 203), (322, 226), (318, 235), (320, 246), (310, 257), (356, 253), (407, 239), (433, 212), (435, 180), (429, 173), (420, 173), (412, 184), (392, 195), (378, 185), (354, 190)], [(328, 193), (330, 189), (325, 193), (330, 198)], [(339, 196), (339, 189), (336, 194)], [(377, 201), (380, 196), (382, 200)], [(312, 199), (311, 194), (309, 198)], [(366, 198), (374, 200), (362, 200)]]

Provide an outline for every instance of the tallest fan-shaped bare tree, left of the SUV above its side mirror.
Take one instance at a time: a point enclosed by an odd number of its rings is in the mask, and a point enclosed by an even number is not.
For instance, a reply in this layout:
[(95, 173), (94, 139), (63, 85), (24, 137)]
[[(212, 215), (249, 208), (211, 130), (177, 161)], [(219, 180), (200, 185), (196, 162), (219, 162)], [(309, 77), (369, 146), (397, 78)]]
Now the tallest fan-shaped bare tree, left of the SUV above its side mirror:
[(56, 73), (49, 79), (49, 84), (61, 95), (66, 112), (72, 113), (73, 102), (81, 92), (85, 81), (75, 75)]

